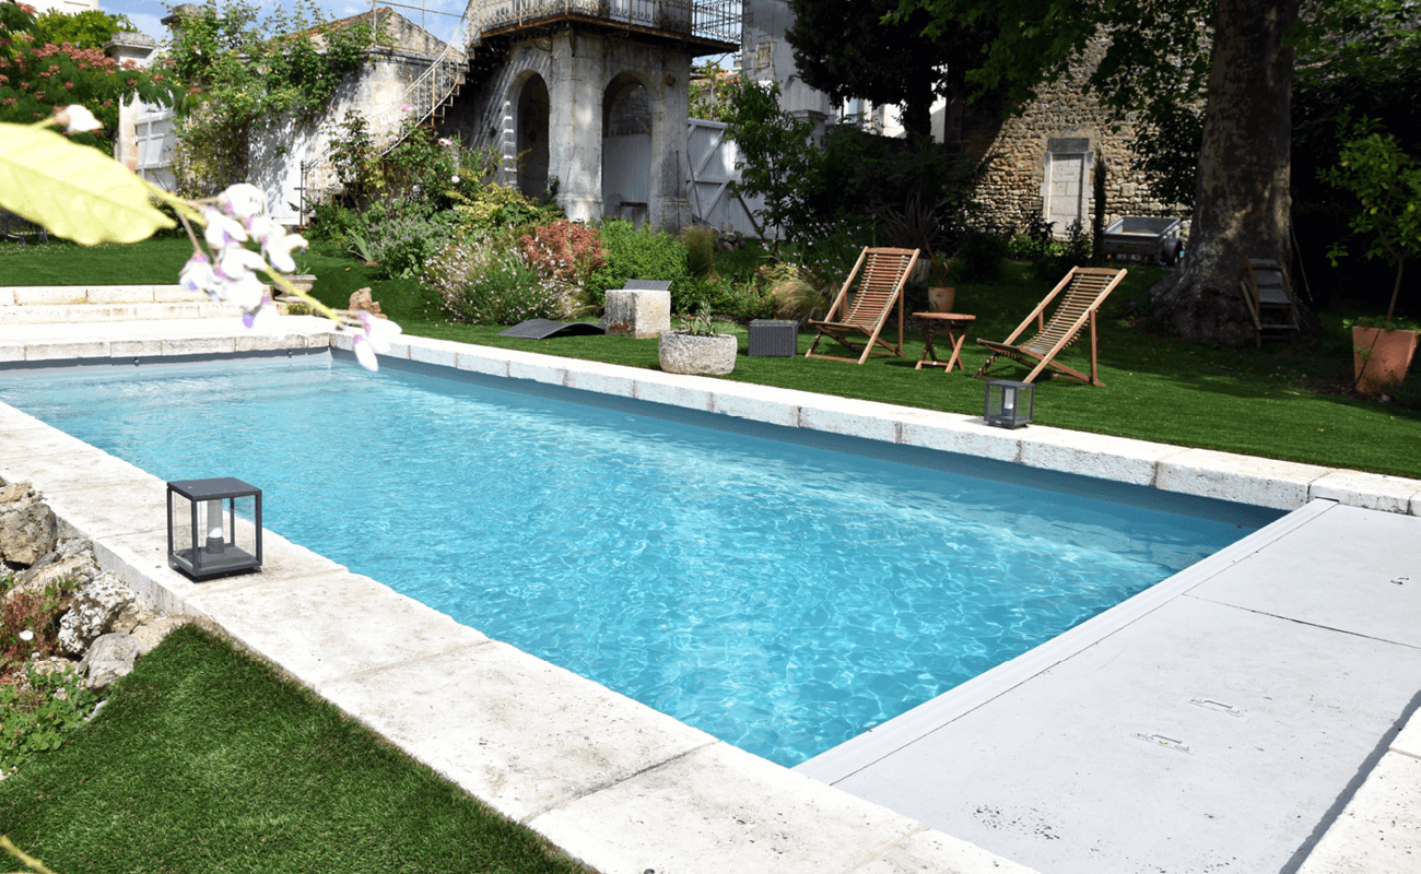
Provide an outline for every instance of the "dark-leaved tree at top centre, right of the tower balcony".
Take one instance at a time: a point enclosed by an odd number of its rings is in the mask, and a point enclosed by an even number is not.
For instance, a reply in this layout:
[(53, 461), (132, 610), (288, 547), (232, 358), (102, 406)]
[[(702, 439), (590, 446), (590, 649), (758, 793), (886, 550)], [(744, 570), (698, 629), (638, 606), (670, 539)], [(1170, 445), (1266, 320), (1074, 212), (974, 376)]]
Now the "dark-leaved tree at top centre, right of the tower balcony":
[(932, 135), (932, 101), (963, 91), (989, 27), (959, 24), (925, 36), (917, 9), (884, 20), (898, 0), (794, 0), (786, 41), (804, 82), (843, 104), (853, 98), (902, 107), (904, 128)]

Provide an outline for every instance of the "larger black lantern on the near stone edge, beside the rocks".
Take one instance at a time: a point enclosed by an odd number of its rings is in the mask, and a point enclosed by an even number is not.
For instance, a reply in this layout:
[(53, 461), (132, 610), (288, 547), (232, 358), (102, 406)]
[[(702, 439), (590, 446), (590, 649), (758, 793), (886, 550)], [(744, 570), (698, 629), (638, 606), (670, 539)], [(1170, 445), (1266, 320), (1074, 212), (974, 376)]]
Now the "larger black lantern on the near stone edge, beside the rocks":
[(261, 489), (230, 476), (168, 483), (168, 567), (193, 580), (260, 571)]

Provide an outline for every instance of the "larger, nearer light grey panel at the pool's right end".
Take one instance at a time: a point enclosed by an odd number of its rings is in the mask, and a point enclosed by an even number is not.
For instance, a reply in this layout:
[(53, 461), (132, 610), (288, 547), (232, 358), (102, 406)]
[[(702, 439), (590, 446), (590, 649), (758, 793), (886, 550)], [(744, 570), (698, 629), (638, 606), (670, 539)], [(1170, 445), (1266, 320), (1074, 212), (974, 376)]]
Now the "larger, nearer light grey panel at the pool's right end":
[(1179, 597), (836, 784), (1053, 874), (1277, 871), (1418, 675), (1410, 647)]

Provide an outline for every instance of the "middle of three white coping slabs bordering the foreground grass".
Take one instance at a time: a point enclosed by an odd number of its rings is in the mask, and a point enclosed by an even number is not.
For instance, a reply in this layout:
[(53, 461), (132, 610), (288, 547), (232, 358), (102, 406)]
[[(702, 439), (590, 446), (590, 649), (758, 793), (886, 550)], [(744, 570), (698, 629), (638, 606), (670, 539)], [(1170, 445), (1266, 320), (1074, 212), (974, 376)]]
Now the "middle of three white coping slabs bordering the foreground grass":
[(331, 681), (323, 695), (517, 821), (715, 743), (499, 642)]

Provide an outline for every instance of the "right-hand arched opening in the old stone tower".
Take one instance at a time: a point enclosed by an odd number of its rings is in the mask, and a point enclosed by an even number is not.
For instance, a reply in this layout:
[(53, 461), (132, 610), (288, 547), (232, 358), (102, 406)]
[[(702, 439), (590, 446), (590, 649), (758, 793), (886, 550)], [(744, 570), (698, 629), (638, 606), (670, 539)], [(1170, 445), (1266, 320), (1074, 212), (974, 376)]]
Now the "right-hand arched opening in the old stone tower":
[(651, 95), (630, 72), (622, 72), (603, 94), (603, 215), (632, 219), (649, 216), (651, 203)]

